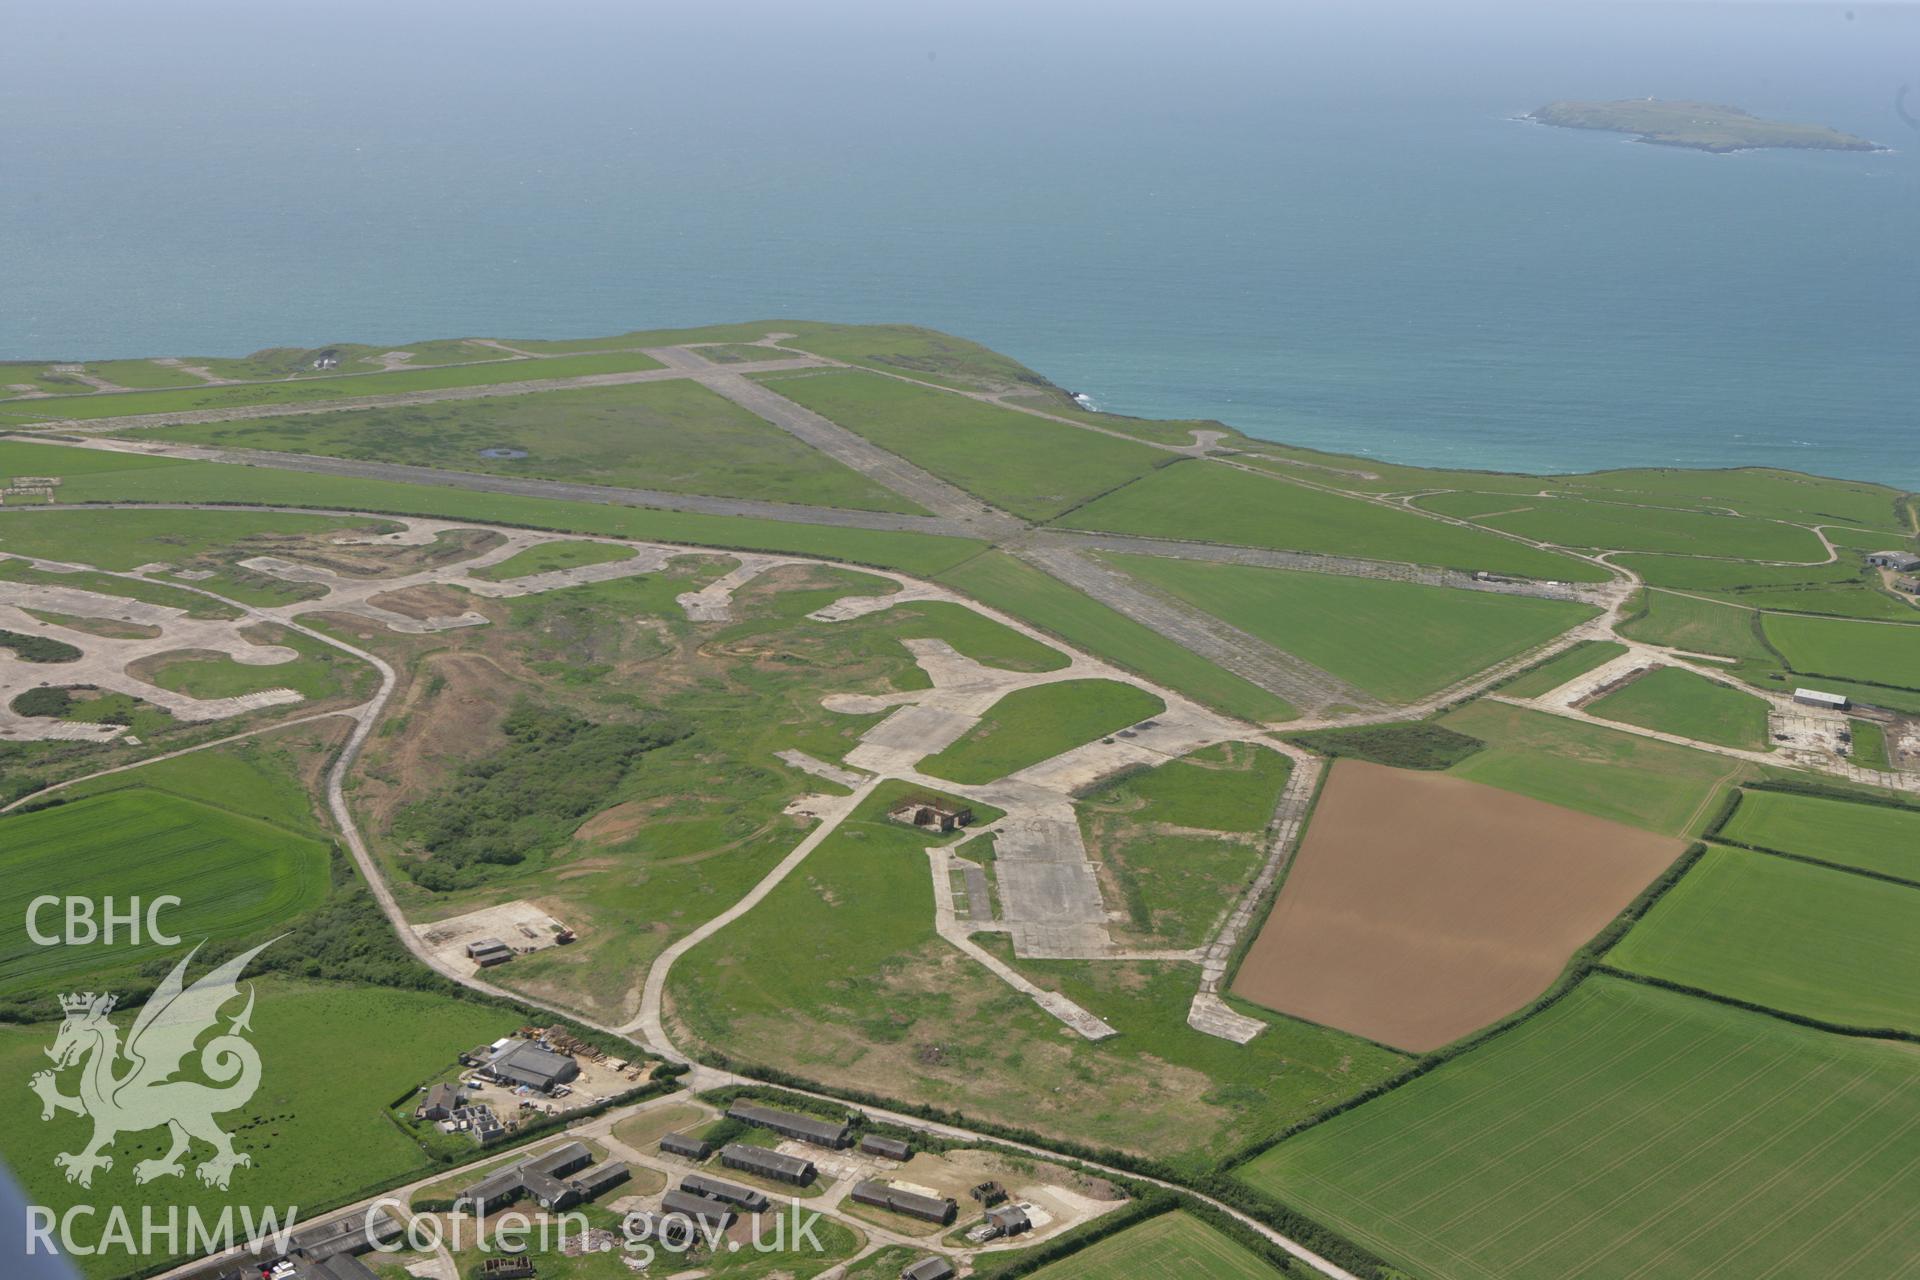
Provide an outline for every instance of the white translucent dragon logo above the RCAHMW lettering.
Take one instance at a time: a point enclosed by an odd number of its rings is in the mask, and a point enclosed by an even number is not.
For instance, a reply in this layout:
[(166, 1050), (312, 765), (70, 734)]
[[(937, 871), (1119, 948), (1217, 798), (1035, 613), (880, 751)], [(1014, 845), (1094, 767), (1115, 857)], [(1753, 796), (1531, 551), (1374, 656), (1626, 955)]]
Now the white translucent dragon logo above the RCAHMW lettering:
[[(73, 1111), (94, 1121), (94, 1138), (86, 1148), (54, 1157), (54, 1163), (67, 1171), (67, 1182), (92, 1186), (96, 1169), (113, 1169), (108, 1150), (119, 1134), (161, 1125), (171, 1132), (173, 1146), (159, 1159), (134, 1165), (134, 1182), (179, 1178), (184, 1173), (180, 1157), (194, 1138), (213, 1148), (213, 1159), (194, 1169), (207, 1186), (227, 1190), (232, 1171), (253, 1163), (252, 1155), (234, 1151), (232, 1138), (213, 1123), (215, 1115), (244, 1107), (259, 1088), (259, 1052), (242, 1036), (253, 1017), (252, 986), (246, 1007), (228, 1023), (227, 1032), (213, 1036), (200, 1050), (202, 1075), (221, 1088), (173, 1077), (180, 1073), (200, 1036), (219, 1023), (221, 1007), (238, 994), (236, 981), (248, 961), (276, 940), (261, 942), (186, 986), (182, 979), (186, 965), (200, 952), (196, 946), (134, 1017), (125, 1046), (119, 1042), (119, 1029), (108, 1021), (117, 996), (86, 992), (60, 998), (67, 1017), (60, 1023), (54, 1048), (46, 1050), (54, 1069), (33, 1077), (33, 1092), (40, 1096), (42, 1121), (54, 1119), (58, 1111)], [(83, 1059), (81, 1092), (67, 1098), (54, 1077)], [(125, 1073), (117, 1071), (121, 1059), (131, 1063)]]

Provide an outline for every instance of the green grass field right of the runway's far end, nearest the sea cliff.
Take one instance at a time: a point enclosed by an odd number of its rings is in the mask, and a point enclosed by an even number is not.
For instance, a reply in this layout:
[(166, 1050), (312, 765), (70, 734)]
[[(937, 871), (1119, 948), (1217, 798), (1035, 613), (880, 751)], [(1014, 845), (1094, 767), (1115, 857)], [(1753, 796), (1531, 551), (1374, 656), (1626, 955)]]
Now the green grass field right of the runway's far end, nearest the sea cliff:
[(1052, 520), (1165, 462), (1146, 445), (866, 372), (768, 388), (1027, 520)]

